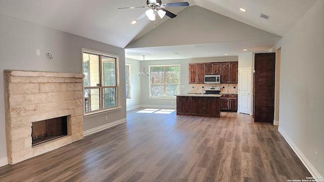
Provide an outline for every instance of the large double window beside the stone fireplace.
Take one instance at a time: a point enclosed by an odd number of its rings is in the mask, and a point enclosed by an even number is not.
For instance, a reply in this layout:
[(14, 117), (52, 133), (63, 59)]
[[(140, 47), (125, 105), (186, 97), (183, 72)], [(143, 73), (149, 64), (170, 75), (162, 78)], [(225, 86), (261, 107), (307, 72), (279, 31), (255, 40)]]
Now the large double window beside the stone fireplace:
[(83, 52), (85, 112), (108, 110), (117, 103), (117, 57)]

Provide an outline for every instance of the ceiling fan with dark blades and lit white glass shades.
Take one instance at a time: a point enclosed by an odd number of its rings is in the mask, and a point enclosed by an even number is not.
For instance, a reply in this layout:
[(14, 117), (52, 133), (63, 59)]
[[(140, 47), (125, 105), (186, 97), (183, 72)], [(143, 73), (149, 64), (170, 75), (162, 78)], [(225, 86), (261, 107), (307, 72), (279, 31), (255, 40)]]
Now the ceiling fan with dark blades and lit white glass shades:
[(156, 20), (156, 13), (160, 18), (163, 18), (165, 15), (167, 15), (170, 18), (174, 18), (177, 15), (174, 13), (171, 13), (170, 11), (164, 9), (168, 7), (186, 7), (189, 6), (188, 2), (179, 2), (179, 3), (166, 3), (162, 4), (161, 0), (147, 0), (146, 1), (146, 7), (145, 6), (139, 6), (139, 7), (124, 7), (124, 8), (118, 8), (118, 9), (133, 9), (133, 8), (148, 8), (146, 12), (144, 12), (140, 17), (137, 18), (137, 20), (143, 19), (145, 16), (151, 21)]

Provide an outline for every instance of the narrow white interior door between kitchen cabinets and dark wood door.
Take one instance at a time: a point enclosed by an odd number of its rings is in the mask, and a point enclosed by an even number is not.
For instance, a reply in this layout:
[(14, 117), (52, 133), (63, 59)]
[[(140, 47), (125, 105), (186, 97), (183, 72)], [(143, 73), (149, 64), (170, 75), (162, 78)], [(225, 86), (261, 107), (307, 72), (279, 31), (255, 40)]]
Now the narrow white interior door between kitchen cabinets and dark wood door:
[(239, 69), (239, 112), (251, 114), (251, 68)]

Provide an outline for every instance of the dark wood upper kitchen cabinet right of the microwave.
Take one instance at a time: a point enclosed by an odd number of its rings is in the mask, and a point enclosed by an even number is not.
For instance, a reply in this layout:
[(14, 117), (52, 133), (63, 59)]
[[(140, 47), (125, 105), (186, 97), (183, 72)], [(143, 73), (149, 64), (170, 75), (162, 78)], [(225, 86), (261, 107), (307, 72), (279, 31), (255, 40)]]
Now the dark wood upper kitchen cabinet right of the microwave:
[(223, 62), (221, 64), (221, 83), (237, 83), (238, 62)]

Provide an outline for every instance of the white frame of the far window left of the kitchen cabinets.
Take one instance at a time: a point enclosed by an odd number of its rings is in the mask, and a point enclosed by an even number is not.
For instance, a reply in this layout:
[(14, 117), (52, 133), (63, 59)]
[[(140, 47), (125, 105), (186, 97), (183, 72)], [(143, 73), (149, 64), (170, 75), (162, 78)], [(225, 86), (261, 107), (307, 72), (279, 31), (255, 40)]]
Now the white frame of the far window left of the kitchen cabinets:
[[(148, 86), (148, 89), (149, 89), (149, 96), (148, 96), (148, 98), (149, 99), (175, 99), (175, 96), (173, 96), (173, 97), (166, 97), (166, 85), (172, 85), (172, 84), (174, 84), (174, 83), (169, 83), (169, 84), (167, 84), (166, 83), (166, 74), (164, 74), (164, 80), (165, 80), (165, 82), (164, 82), (164, 93), (163, 93), (163, 97), (158, 97), (158, 96), (152, 96), (152, 93), (151, 93), (151, 67), (164, 67), (164, 70), (165, 70), (165, 73), (166, 73), (166, 67), (173, 67), (173, 66), (179, 66), (179, 94), (181, 93), (181, 65), (180, 64), (172, 64), (172, 65), (149, 65), (148, 66), (148, 70), (149, 70), (149, 73), (150, 73), (150, 76), (149, 76), (149, 79), (148, 79), (148, 82), (149, 82), (149, 86)], [(158, 84), (156, 84), (156, 85), (158, 85)], [(161, 83), (160, 83), (160, 85), (162, 85)], [(178, 85), (178, 84), (174, 84), (174, 85)]]

